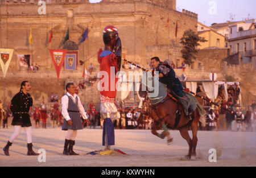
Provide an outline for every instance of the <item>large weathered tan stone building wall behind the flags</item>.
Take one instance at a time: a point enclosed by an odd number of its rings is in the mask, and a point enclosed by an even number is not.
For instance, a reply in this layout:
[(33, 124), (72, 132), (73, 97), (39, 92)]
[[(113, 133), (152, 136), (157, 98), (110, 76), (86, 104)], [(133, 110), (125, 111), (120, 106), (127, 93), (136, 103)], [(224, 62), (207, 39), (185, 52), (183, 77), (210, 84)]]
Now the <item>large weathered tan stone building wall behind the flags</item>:
[[(183, 61), (179, 39), (185, 30), (196, 31), (197, 14), (187, 10), (176, 11), (175, 0), (103, 0), (89, 3), (88, 0), (49, 0), (46, 12), (38, 1), (2, 0), (0, 6), (0, 46), (14, 49), (9, 71), (6, 76), (6, 101), (10, 101), (22, 80), (29, 80), (34, 88), (31, 91), (35, 102), (47, 98), (50, 92), (64, 93), (67, 81), (82, 80), (82, 72), (89, 64), (94, 65), (90, 76), (99, 71), (97, 62), (98, 49), (104, 48), (102, 30), (112, 24), (118, 28), (122, 40), (122, 52), (127, 60), (149, 68), (150, 58), (159, 56), (161, 60)], [(39, 13), (39, 11), (41, 13)], [(168, 22), (168, 25), (167, 25)], [(177, 26), (177, 36), (176, 36)], [(88, 38), (79, 43), (79, 37), (88, 27)], [(75, 71), (60, 72), (59, 81), (52, 63), (49, 49), (63, 48), (61, 40), (69, 29), (69, 42), (79, 51), (79, 61)], [(48, 43), (52, 30), (52, 41)], [(32, 34), (32, 45), (28, 43)], [(37, 63), (39, 71), (29, 72), (20, 67), (17, 55), (30, 55), (30, 64)], [(0, 82), (3, 75), (0, 73)], [(46, 87), (42, 87), (46, 86)], [(59, 89), (59, 90), (58, 90)], [(3, 85), (0, 86), (3, 92)], [(92, 93), (90, 95), (86, 93)], [(99, 102), (97, 82), (80, 90), (82, 102)], [(3, 100), (1, 94), (0, 99)], [(40, 100), (40, 101), (39, 101)]]

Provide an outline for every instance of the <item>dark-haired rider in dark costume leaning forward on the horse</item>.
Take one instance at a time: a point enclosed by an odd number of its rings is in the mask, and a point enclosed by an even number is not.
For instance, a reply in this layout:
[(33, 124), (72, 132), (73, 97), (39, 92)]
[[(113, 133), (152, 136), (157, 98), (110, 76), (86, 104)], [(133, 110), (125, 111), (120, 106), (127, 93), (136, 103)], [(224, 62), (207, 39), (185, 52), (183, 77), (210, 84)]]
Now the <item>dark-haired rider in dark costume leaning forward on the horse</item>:
[[(177, 96), (184, 98), (184, 100), (187, 100), (187, 97), (185, 97), (184, 93), (182, 92), (183, 86), (179, 78), (176, 77), (174, 69), (172, 69), (170, 65), (160, 62), (159, 57), (152, 57), (151, 65), (154, 68), (154, 71), (159, 72), (160, 82), (162, 82), (163, 84), (166, 84), (167, 88), (172, 89), (177, 94)], [(193, 110), (191, 106), (189, 106), (188, 116), (190, 117), (192, 113), (193, 113)]]

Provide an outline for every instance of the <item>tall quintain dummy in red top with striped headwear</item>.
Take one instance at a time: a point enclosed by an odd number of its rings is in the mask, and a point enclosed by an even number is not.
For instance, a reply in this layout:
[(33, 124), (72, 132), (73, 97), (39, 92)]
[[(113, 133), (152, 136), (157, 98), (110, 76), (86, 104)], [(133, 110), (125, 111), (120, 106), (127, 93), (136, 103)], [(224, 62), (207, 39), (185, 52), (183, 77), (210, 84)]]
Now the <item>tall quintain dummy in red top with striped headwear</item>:
[(118, 37), (117, 28), (106, 26), (103, 30), (104, 50), (98, 51), (98, 63), (100, 63), (100, 93), (101, 93), (101, 118), (104, 119), (102, 146), (110, 149), (115, 144), (114, 126), (112, 119), (119, 119), (120, 114), (115, 102), (117, 89), (115, 84), (118, 78), (115, 74), (121, 68), (121, 40)]

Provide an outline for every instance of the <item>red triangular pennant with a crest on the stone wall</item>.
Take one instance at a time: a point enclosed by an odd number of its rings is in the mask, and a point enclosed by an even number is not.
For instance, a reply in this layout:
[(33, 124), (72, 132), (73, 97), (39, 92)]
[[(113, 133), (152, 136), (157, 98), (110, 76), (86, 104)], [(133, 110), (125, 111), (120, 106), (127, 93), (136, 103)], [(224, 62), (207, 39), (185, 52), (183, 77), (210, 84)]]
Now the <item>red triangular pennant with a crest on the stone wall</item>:
[(52, 56), (52, 62), (56, 69), (57, 78), (59, 79), (61, 67), (64, 64), (64, 57), (66, 55), (67, 49), (49, 49), (49, 51)]

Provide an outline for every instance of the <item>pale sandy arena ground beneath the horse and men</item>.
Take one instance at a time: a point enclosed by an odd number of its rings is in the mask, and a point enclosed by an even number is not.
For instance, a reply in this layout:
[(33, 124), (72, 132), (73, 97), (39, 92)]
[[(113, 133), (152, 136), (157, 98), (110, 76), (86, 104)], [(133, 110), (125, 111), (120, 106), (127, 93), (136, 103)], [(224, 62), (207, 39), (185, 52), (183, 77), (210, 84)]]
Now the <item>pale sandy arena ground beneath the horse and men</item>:
[[(2, 148), (13, 134), (13, 127), (0, 129), (0, 166), (256, 166), (256, 133), (232, 131), (199, 131), (197, 160), (180, 158), (187, 154), (188, 144), (179, 131), (170, 131), (174, 142), (167, 146), (166, 140), (152, 135), (149, 130), (115, 130), (115, 146), (129, 155), (86, 155), (101, 150), (102, 130), (79, 130), (74, 150), (79, 156), (63, 155), (66, 131), (57, 129), (32, 129), (34, 151), (47, 151), (46, 163), (39, 163), (38, 156), (27, 156), (26, 133), (21, 130), (10, 147), (10, 156)], [(189, 132), (191, 135), (191, 132)], [(209, 149), (216, 148), (217, 163), (209, 163)]]

